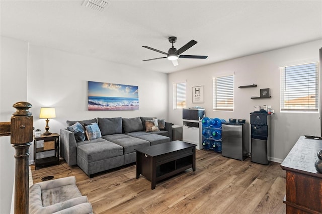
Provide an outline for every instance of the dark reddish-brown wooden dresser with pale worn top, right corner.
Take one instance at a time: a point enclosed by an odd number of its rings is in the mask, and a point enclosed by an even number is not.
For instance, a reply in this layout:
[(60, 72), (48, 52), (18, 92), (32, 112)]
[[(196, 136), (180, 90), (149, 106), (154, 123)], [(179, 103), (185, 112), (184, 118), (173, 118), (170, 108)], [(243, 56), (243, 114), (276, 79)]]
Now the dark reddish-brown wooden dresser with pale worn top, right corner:
[(322, 173), (315, 170), (322, 140), (301, 136), (281, 168), (286, 171), (286, 213), (322, 213)]

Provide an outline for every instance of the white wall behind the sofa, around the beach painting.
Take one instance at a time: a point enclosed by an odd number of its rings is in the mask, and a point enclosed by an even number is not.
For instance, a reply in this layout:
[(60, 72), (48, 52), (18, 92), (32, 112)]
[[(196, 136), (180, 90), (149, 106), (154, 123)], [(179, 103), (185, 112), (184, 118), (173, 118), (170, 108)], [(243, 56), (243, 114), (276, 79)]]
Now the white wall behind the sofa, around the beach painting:
[[(87, 81), (137, 85), (139, 110), (88, 111)], [(59, 133), (66, 120), (112, 117), (168, 119), (168, 75), (115, 64), (59, 50), (29, 46), (28, 100), (33, 104), (35, 129), (45, 131), (41, 107), (56, 108), (49, 131)], [(32, 155), (33, 156), (33, 155)]]

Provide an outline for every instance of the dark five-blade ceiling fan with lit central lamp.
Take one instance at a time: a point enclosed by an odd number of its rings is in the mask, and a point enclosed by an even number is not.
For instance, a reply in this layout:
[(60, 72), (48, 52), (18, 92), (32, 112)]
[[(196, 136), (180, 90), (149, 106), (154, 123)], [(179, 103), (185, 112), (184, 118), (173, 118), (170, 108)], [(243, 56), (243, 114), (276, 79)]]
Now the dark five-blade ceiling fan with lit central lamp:
[(165, 54), (167, 56), (165, 57), (158, 57), (158, 58), (153, 58), (153, 59), (145, 59), (143, 61), (150, 61), (150, 60), (154, 60), (154, 59), (164, 59), (167, 58), (169, 60), (172, 61), (174, 66), (178, 65), (178, 58), (186, 58), (186, 59), (206, 59), (208, 56), (197, 56), (197, 55), (180, 55), (183, 52), (185, 52), (186, 50), (188, 50), (189, 48), (191, 48), (192, 46), (194, 46), (195, 44), (197, 44), (197, 41), (195, 40), (191, 40), (190, 42), (188, 42), (187, 44), (185, 44), (184, 46), (182, 46), (181, 48), (179, 48), (179, 50), (177, 50), (177, 48), (175, 48), (173, 46), (173, 43), (175, 43), (177, 41), (177, 37), (172, 36), (169, 37), (169, 42), (172, 43), (172, 47), (169, 49), (168, 53), (148, 47), (148, 46), (142, 46), (143, 48), (147, 48), (150, 49), (152, 51), (156, 51), (162, 54)]

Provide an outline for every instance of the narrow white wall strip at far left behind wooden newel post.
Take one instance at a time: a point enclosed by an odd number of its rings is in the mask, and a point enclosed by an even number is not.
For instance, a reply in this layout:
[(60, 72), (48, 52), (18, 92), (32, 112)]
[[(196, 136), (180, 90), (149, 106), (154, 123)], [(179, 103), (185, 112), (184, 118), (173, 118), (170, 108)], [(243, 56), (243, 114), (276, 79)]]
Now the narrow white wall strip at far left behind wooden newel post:
[[(13, 104), (27, 101), (27, 43), (0, 39), (0, 121), (9, 122)], [(10, 213), (15, 177), (15, 149), (10, 136), (0, 137), (0, 212)]]

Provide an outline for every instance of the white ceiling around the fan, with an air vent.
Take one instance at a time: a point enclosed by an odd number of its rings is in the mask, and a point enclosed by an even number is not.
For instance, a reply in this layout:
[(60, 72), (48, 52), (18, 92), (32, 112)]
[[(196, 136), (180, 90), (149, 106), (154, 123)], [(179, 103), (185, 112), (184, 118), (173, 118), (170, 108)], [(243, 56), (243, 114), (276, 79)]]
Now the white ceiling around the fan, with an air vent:
[[(322, 1), (109, 1), (97, 12), (74, 1), (0, 1), (1, 35), (144, 70), (171, 73), (322, 39)], [(198, 43), (179, 65), (168, 52)]]

